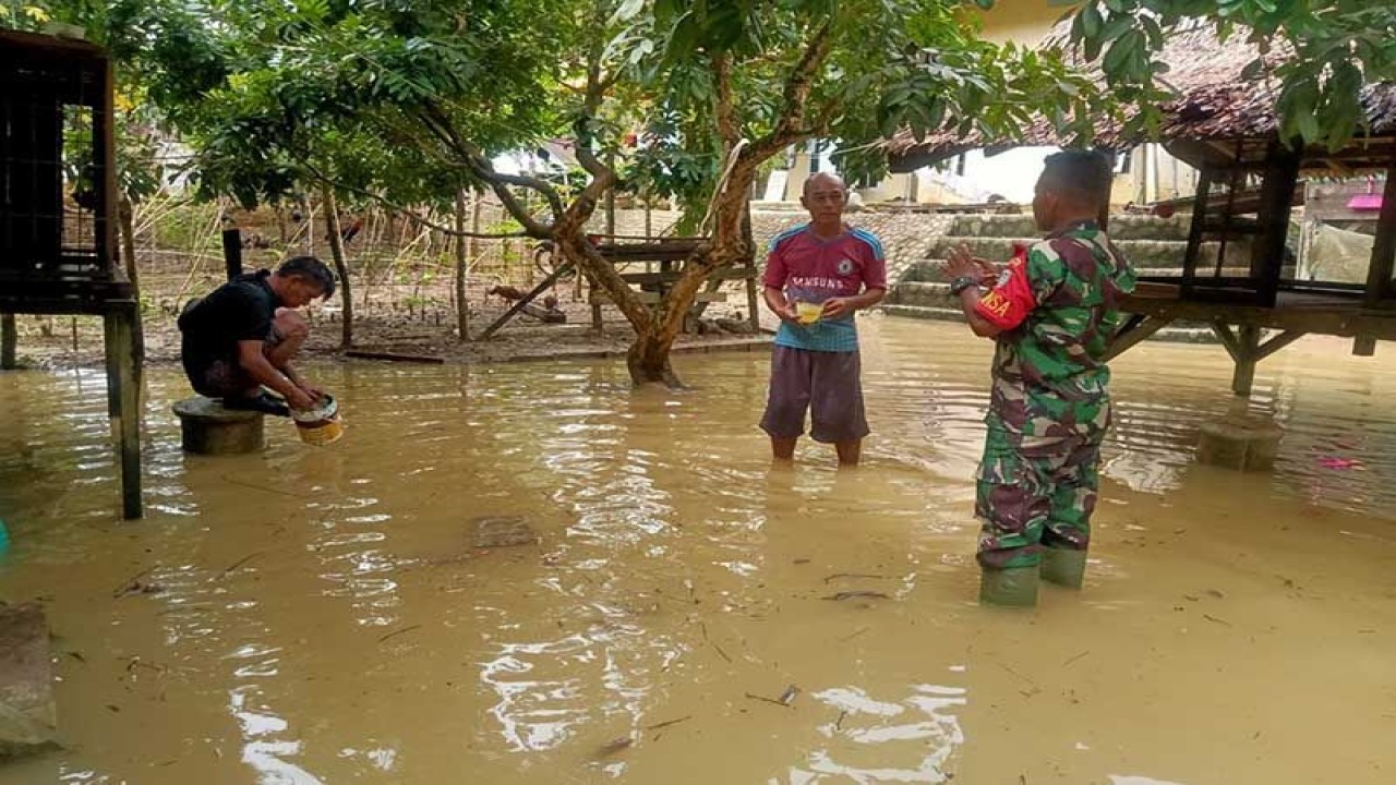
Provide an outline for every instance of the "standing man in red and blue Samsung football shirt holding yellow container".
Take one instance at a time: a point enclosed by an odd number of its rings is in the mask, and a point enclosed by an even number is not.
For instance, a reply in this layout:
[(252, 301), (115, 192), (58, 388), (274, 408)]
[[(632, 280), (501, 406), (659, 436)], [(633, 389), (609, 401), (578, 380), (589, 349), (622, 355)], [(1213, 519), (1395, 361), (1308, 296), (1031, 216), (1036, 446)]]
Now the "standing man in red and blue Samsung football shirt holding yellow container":
[(766, 307), (780, 317), (780, 330), (761, 429), (776, 460), (794, 457), (807, 409), (810, 436), (833, 443), (840, 464), (859, 462), (868, 434), (853, 313), (882, 300), (886, 261), (877, 236), (843, 223), (846, 200), (836, 175), (805, 180), (800, 204), (810, 222), (778, 235), (766, 256)]

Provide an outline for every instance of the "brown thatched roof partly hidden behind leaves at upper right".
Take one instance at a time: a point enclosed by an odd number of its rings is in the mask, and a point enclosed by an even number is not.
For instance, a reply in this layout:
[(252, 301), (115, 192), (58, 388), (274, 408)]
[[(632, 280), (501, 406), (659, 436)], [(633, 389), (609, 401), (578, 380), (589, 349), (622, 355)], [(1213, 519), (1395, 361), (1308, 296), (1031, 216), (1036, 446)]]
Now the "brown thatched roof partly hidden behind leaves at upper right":
[[(1043, 47), (1067, 49), (1071, 20), (1064, 20), (1043, 42)], [(1242, 70), (1259, 56), (1255, 45), (1245, 41), (1244, 31), (1234, 34), (1226, 43), (1217, 41), (1210, 27), (1174, 34), (1164, 45), (1160, 59), (1168, 64), (1163, 80), (1178, 92), (1178, 99), (1164, 106), (1160, 140), (1124, 138), (1118, 123), (1101, 117), (1096, 126), (1096, 144), (1114, 149), (1127, 149), (1143, 141), (1164, 141), (1174, 155), (1198, 163), (1215, 155), (1227, 155), (1226, 144), (1231, 140), (1273, 138), (1279, 123), (1275, 115), (1275, 101), (1279, 82), (1265, 75), (1248, 80)], [(1266, 56), (1273, 66), (1286, 54), (1276, 49)], [(1071, 59), (1079, 61), (1072, 54)], [(1093, 73), (1103, 80), (1099, 70)], [(1362, 103), (1369, 123), (1371, 137), (1396, 135), (1396, 84), (1368, 87)], [(960, 137), (953, 130), (928, 135), (917, 142), (910, 131), (900, 131), (884, 142), (892, 158), (893, 172), (910, 172), (937, 163), (960, 152), (977, 148), (1018, 145), (1061, 145), (1071, 140), (1065, 129), (1054, 127), (1041, 117), (1023, 134), (1022, 140), (984, 138), (977, 133)], [(1173, 144), (1178, 142), (1178, 144)], [(1191, 142), (1191, 144), (1189, 144)], [(1201, 142), (1201, 144), (1199, 144)], [(1314, 151), (1316, 159), (1349, 159), (1349, 166), (1360, 169), (1368, 165), (1385, 166), (1392, 159), (1392, 147), (1360, 149), (1362, 140), (1354, 144), (1351, 155), (1332, 155)], [(1212, 151), (1212, 152), (1208, 152)], [(1307, 156), (1308, 158), (1308, 156)], [(1368, 161), (1369, 159), (1369, 161)], [(1385, 161), (1385, 162), (1383, 162)]]

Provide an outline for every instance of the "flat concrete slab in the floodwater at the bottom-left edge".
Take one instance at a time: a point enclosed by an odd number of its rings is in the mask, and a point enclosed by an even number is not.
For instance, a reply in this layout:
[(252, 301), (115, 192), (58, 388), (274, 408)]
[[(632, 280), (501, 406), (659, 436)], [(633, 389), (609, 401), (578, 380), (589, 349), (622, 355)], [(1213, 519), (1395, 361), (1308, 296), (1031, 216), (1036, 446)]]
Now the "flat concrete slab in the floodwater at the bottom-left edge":
[(56, 744), (49, 624), (35, 603), (0, 606), (0, 760)]

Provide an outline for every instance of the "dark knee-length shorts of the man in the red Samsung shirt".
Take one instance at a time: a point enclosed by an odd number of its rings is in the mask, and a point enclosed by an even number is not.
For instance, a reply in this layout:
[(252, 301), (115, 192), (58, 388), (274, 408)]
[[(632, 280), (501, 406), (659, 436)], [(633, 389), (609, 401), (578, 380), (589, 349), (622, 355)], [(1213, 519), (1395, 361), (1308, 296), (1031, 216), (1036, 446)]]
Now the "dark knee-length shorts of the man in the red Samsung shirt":
[(775, 346), (771, 355), (771, 395), (761, 430), (778, 439), (804, 433), (826, 444), (856, 441), (868, 434), (863, 412), (861, 363), (857, 352), (810, 352)]

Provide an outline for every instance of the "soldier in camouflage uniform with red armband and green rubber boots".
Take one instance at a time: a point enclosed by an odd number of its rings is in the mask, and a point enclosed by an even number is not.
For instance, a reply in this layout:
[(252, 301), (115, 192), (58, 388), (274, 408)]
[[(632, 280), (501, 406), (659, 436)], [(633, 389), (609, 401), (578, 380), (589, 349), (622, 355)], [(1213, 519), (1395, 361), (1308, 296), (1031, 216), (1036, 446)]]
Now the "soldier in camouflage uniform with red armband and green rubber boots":
[(1096, 225), (1110, 179), (1097, 154), (1048, 156), (1033, 198), (1044, 239), (1002, 270), (963, 246), (946, 264), (970, 328), (997, 344), (976, 478), (981, 602), (1033, 605), (1039, 575), (1081, 588), (1110, 426), (1104, 353), (1135, 281)]

